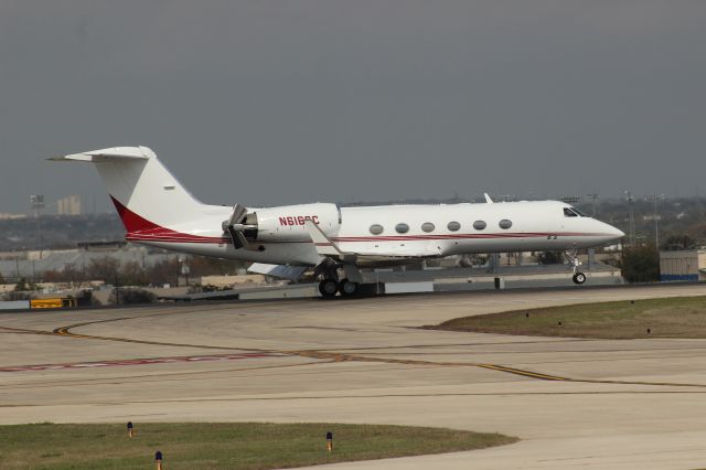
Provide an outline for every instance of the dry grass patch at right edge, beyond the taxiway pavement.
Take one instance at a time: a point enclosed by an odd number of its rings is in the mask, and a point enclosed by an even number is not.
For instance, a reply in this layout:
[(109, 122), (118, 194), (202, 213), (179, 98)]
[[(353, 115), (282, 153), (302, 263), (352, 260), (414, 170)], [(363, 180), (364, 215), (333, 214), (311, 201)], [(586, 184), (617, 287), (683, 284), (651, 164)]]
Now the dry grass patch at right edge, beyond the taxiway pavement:
[(531, 337), (703, 339), (706, 338), (706, 297), (515, 310), (463, 317), (425, 328)]

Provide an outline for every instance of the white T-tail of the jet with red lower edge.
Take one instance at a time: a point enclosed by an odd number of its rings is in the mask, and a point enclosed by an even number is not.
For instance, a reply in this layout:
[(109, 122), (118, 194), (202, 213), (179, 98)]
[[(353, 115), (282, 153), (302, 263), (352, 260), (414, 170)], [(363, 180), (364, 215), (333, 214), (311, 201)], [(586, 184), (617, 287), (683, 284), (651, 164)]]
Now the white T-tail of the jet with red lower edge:
[(147, 147), (114, 147), (50, 160), (95, 163), (128, 232), (193, 221), (207, 207)]

